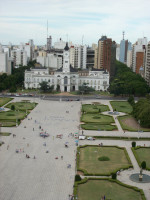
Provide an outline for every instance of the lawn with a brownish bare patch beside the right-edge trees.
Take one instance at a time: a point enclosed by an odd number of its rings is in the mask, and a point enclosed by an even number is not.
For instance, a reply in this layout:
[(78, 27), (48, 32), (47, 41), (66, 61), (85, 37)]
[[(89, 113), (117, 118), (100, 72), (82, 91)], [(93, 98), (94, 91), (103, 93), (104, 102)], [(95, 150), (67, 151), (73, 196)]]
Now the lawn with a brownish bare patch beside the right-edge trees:
[(150, 131), (150, 129), (148, 128), (141, 127), (138, 124), (137, 120), (131, 115), (119, 116), (118, 120), (123, 130), (134, 131), (134, 132), (138, 132), (139, 130), (145, 132)]

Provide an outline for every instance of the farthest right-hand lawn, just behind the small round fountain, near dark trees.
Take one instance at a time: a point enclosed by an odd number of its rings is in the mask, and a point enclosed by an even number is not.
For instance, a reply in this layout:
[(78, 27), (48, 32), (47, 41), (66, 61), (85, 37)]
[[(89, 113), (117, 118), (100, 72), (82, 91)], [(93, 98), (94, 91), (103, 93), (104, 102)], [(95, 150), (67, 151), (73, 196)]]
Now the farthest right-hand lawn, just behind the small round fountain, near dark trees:
[(113, 110), (130, 114), (133, 110), (127, 101), (110, 101)]

